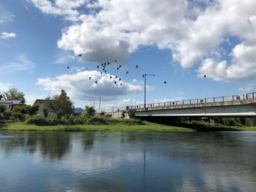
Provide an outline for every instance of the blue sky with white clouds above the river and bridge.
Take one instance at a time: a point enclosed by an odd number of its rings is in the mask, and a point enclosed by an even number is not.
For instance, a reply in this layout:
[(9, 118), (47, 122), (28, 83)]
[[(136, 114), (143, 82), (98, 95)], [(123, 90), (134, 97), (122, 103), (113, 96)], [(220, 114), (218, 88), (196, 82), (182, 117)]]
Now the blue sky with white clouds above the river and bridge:
[(0, 93), (27, 104), (64, 89), (124, 109), (143, 104), (145, 73), (147, 103), (250, 93), (255, 53), (255, 0), (0, 1)]

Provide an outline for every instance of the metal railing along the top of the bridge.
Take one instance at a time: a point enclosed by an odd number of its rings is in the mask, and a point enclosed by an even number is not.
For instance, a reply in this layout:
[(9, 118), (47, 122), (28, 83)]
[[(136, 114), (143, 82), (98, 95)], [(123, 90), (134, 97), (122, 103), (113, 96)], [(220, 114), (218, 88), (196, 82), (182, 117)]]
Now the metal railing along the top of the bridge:
[[(216, 102), (224, 102), (224, 101), (241, 101), (241, 100), (253, 99), (253, 98), (256, 98), (256, 92), (233, 95), (233, 96), (209, 97), (209, 98), (205, 98), (205, 99), (187, 99), (187, 100), (150, 103), (150, 104), (146, 104), (146, 108), (170, 107), (170, 106), (188, 105), (188, 104), (216, 103)], [(143, 109), (143, 108), (144, 108), (143, 104), (127, 106), (127, 110), (129, 110), (129, 109), (138, 110), (138, 109)]]

